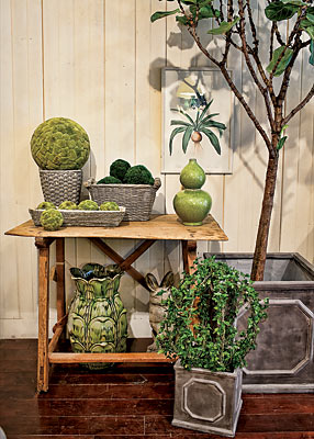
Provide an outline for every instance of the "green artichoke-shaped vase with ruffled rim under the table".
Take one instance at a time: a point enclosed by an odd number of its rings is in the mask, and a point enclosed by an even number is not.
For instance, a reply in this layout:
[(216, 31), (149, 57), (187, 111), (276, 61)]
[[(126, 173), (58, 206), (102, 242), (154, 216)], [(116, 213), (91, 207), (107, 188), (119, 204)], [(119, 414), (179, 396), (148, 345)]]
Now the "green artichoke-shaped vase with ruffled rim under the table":
[[(71, 268), (76, 282), (69, 306), (68, 333), (75, 352), (125, 352), (127, 338), (126, 309), (119, 293), (123, 271), (119, 266), (88, 263)], [(86, 363), (89, 369), (103, 369), (109, 363)]]

